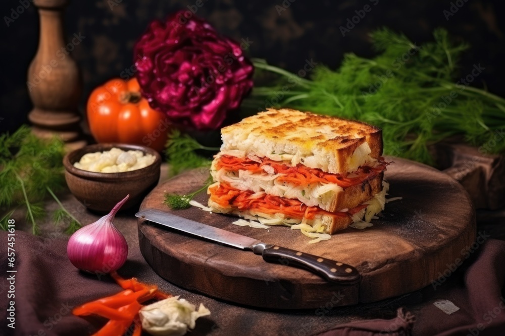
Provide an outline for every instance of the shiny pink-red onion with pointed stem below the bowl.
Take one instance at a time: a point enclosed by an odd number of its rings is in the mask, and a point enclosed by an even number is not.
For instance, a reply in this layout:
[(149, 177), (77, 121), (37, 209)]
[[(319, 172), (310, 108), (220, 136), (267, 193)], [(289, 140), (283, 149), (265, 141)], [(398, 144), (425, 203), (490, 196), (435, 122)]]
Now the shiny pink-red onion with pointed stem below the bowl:
[(126, 195), (109, 215), (77, 230), (70, 237), (67, 254), (74, 266), (91, 273), (110, 273), (125, 263), (128, 244), (113, 221), (129, 196)]

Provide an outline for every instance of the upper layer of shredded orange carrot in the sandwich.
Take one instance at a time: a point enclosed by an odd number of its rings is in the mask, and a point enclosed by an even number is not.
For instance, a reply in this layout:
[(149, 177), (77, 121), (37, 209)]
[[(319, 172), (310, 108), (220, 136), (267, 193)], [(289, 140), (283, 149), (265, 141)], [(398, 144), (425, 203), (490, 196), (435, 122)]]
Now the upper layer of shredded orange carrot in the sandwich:
[[(224, 168), (228, 171), (248, 170), (252, 173), (265, 172), (264, 167), (270, 166), (274, 169), (274, 174), (283, 174), (277, 177), (278, 182), (286, 182), (294, 185), (307, 186), (311, 183), (321, 182), (335, 183), (342, 188), (358, 185), (380, 174), (386, 169), (388, 163), (384, 158), (379, 158), (378, 164), (374, 167), (364, 166), (357, 171), (346, 174), (332, 174), (321, 169), (309, 168), (302, 164), (290, 166), (268, 158), (259, 158), (261, 162), (256, 162), (249, 158), (239, 158), (231, 155), (222, 155), (216, 163), (219, 170)], [(351, 177), (349, 177), (351, 176)]]

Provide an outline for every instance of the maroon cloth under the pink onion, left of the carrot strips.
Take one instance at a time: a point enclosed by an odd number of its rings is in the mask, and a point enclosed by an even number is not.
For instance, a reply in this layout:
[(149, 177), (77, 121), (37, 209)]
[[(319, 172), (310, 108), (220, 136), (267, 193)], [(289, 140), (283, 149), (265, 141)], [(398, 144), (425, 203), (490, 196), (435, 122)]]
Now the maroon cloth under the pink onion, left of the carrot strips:
[[(95, 327), (72, 315), (72, 308), (87, 301), (118, 293), (109, 278), (84, 275), (67, 257), (66, 241), (15, 232), (14, 267), (7, 259), (7, 233), (0, 232), (0, 334), (23, 336), (90, 335)], [(8, 273), (8, 270), (16, 270)], [(79, 275), (79, 276), (78, 276)], [(14, 276), (14, 297), (8, 298)], [(9, 301), (14, 301), (15, 328), (8, 326)], [(97, 325), (103, 324), (96, 320)], [(95, 323), (96, 324), (96, 323)], [(5, 330), (2, 332), (2, 330)]]

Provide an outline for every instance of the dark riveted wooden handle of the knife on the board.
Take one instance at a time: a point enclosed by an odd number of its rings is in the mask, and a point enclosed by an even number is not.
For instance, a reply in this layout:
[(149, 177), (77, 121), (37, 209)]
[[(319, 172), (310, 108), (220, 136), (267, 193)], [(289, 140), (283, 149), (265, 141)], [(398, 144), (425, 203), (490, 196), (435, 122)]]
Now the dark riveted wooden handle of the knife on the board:
[(351, 265), (285, 247), (267, 245), (262, 256), (266, 261), (305, 268), (328, 281), (343, 285), (352, 285), (361, 279), (358, 270)]

